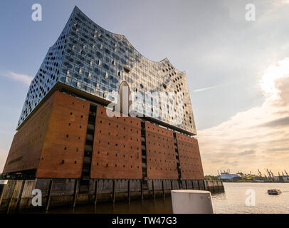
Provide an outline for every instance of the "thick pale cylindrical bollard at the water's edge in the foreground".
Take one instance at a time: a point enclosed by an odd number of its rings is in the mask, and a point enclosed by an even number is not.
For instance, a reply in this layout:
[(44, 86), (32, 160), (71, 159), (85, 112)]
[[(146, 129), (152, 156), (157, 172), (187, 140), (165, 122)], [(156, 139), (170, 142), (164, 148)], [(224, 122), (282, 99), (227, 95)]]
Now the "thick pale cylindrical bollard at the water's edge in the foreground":
[(174, 214), (214, 214), (211, 192), (200, 190), (172, 190)]

